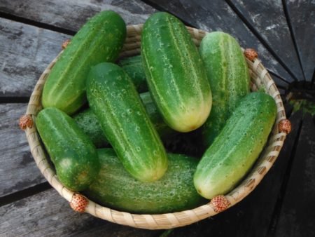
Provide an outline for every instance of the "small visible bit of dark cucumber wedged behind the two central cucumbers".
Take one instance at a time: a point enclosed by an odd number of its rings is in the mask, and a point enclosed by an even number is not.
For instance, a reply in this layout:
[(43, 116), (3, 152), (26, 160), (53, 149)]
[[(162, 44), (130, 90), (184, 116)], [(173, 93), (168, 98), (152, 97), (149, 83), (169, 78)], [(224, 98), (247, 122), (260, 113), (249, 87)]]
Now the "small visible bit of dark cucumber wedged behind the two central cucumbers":
[(146, 83), (146, 74), (144, 73), (144, 65), (142, 64), (141, 55), (123, 58), (122, 60), (119, 60), (118, 65), (123, 67), (125, 72), (127, 72), (139, 93), (148, 91), (148, 84)]

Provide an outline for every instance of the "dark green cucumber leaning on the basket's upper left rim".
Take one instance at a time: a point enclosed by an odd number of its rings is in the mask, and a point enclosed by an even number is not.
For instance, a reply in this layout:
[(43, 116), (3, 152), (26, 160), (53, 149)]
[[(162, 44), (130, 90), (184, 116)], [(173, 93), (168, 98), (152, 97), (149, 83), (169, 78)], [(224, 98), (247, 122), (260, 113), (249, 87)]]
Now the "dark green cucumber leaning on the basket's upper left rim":
[(90, 67), (113, 62), (126, 37), (123, 18), (113, 11), (94, 15), (64, 49), (43, 88), (43, 107), (73, 114), (86, 102), (85, 81)]

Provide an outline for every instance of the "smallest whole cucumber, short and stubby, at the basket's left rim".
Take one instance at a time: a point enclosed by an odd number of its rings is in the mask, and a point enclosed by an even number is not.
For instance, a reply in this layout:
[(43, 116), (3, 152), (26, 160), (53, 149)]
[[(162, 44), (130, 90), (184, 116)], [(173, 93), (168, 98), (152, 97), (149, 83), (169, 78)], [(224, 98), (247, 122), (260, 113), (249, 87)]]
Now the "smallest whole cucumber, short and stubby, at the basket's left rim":
[(86, 189), (99, 173), (97, 150), (90, 138), (73, 118), (54, 107), (38, 113), (36, 128), (60, 182), (72, 191)]

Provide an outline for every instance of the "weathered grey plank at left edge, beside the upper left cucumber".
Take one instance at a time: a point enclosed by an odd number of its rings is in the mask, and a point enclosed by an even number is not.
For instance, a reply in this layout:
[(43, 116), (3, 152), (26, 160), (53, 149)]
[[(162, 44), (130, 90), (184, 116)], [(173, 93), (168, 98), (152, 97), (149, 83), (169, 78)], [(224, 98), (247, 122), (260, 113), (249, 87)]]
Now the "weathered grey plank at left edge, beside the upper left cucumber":
[(69, 36), (0, 18), (0, 96), (29, 97)]

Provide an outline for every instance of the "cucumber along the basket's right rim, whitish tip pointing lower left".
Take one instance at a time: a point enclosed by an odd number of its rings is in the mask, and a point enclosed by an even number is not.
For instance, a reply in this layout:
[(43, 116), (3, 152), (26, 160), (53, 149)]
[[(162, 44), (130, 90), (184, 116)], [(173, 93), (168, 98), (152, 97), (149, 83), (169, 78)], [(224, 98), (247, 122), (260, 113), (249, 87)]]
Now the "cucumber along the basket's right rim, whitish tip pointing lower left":
[(258, 158), (276, 118), (276, 103), (265, 93), (243, 97), (221, 133), (202, 156), (194, 184), (204, 198), (226, 194)]

